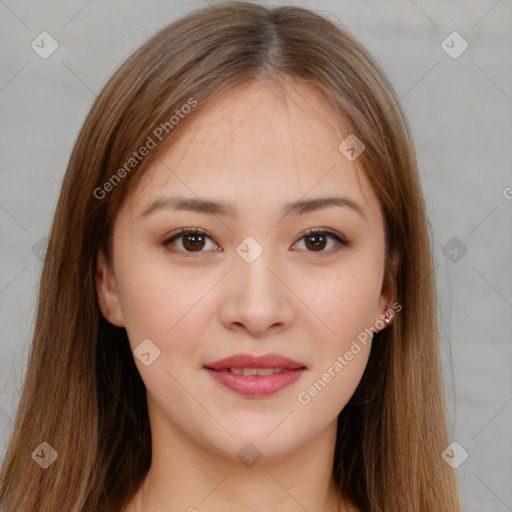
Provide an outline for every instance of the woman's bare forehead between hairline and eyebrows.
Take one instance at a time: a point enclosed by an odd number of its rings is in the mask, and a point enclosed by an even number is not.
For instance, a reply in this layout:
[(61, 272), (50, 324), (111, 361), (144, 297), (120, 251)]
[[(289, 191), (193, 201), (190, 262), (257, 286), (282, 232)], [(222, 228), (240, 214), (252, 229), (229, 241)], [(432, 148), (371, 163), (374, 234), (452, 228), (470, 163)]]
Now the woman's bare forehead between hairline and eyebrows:
[(142, 212), (164, 191), (283, 203), (343, 192), (377, 214), (364, 173), (338, 149), (350, 134), (321, 93), (291, 82), (229, 91), (191, 120), (152, 163), (131, 197)]

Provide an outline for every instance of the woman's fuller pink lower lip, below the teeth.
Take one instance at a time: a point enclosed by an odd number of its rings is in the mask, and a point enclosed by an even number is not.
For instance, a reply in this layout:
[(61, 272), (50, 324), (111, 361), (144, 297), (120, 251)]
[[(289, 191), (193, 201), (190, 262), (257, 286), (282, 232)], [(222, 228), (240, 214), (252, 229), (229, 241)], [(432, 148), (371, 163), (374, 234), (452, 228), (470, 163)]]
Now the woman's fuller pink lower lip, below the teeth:
[(274, 375), (236, 375), (206, 368), (208, 373), (223, 386), (245, 396), (268, 396), (296, 382), (304, 373), (305, 368), (288, 370)]

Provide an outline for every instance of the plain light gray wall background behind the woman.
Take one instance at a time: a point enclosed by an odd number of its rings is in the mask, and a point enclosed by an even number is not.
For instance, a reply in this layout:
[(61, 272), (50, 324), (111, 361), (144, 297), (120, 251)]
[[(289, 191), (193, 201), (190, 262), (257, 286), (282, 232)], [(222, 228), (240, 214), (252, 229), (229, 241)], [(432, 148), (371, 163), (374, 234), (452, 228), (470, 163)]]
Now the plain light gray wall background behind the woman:
[[(451, 440), (469, 454), (457, 469), (464, 510), (512, 511), (512, 3), (293, 3), (342, 22), (401, 98), (434, 227)], [(0, 0), (2, 453), (33, 331), (37, 244), (74, 139), (118, 65), (204, 5)], [(31, 48), (43, 31), (59, 45), (47, 59)], [(441, 46), (453, 31), (469, 43), (456, 59)]]

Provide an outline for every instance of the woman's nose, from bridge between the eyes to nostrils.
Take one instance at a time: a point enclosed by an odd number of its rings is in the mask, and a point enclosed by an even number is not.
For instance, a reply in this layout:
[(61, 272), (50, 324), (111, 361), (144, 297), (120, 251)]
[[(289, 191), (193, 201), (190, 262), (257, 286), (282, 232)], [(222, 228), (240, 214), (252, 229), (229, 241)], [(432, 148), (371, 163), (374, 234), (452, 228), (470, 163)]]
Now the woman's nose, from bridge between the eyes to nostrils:
[(293, 286), (267, 257), (268, 252), (264, 250), (252, 263), (235, 254), (235, 268), (227, 276), (220, 302), (219, 315), (226, 329), (264, 338), (292, 324)]

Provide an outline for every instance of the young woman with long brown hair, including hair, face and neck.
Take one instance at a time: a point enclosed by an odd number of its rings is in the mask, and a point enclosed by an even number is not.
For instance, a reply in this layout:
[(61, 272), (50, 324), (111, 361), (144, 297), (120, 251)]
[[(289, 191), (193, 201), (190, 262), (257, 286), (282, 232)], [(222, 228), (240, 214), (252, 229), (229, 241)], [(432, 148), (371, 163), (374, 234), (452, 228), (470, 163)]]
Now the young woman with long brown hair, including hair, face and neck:
[(377, 64), (306, 9), (194, 12), (75, 144), (2, 510), (457, 511), (436, 312)]

